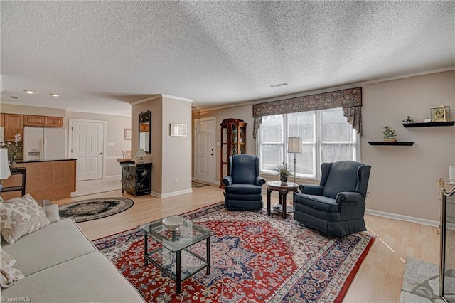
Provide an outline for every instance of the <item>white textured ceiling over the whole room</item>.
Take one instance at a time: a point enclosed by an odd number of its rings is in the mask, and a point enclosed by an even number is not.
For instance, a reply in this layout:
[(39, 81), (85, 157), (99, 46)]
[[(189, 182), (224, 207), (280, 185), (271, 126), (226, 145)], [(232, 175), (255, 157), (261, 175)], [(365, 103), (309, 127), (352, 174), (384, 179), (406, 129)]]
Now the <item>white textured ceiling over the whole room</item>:
[(160, 93), (218, 107), (455, 66), (454, 1), (2, 0), (0, 10), (4, 103), (129, 115), (130, 102)]

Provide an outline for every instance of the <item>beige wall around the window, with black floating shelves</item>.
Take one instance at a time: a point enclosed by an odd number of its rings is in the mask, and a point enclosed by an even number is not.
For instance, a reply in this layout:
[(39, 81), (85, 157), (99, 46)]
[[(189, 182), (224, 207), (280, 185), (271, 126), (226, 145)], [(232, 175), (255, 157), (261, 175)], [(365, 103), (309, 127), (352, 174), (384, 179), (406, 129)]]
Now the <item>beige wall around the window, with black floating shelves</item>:
[[(358, 86), (358, 85), (355, 85)], [(367, 208), (373, 211), (439, 220), (440, 177), (449, 178), (447, 166), (455, 164), (455, 126), (405, 128), (402, 119), (411, 115), (416, 122), (429, 117), (430, 107), (449, 105), (455, 119), (455, 71), (433, 73), (398, 80), (361, 85), (363, 90), (363, 137), (361, 161), (372, 166)], [(244, 119), (247, 152), (256, 153), (252, 139), (252, 105), (196, 113), (193, 119), (216, 117), (217, 141), (223, 119)], [(382, 127), (390, 125), (399, 141), (415, 142), (412, 147), (370, 146), (382, 139)], [(217, 181), (220, 181), (220, 151), (217, 147)], [(271, 176), (265, 176), (271, 179)], [(300, 184), (314, 183), (297, 179)]]

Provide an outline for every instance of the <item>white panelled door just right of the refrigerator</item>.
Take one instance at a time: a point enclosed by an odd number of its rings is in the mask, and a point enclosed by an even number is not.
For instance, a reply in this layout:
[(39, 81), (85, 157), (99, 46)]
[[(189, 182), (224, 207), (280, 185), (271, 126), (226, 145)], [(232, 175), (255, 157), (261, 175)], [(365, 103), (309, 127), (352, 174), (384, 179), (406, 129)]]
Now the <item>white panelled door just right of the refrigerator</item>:
[(104, 126), (103, 122), (71, 122), (71, 157), (77, 159), (77, 181), (102, 179)]

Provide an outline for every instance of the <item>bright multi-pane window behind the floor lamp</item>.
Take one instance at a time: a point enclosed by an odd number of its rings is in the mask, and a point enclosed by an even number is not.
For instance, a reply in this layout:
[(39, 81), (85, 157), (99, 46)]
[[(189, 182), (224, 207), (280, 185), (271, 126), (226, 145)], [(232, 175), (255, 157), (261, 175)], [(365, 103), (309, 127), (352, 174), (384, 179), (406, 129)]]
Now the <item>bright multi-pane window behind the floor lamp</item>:
[(358, 135), (341, 108), (294, 112), (262, 117), (259, 129), (261, 172), (274, 174), (277, 164), (294, 169), (294, 154), (287, 153), (287, 138), (301, 137), (303, 153), (296, 154), (296, 176), (321, 178), (321, 163), (358, 161)]

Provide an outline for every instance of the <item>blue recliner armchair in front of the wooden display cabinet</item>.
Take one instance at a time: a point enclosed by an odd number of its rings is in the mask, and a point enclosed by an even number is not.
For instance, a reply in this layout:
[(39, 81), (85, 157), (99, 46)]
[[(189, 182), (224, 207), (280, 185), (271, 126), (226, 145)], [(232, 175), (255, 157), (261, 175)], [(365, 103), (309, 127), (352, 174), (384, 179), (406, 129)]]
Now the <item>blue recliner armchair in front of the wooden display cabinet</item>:
[(259, 176), (259, 158), (250, 154), (230, 156), (229, 174), (225, 184), (225, 208), (231, 211), (257, 211), (263, 208), (262, 185)]

